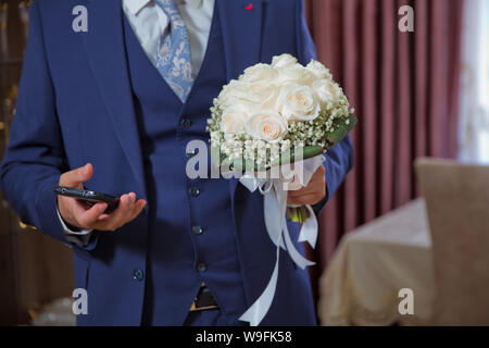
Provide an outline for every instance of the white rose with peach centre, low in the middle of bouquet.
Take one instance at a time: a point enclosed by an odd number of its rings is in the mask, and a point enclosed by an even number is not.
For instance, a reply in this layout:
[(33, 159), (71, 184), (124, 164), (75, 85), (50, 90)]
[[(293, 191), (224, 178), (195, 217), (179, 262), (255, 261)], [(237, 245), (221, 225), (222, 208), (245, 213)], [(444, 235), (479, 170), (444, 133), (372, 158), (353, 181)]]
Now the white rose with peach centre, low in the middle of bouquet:
[(274, 142), (287, 134), (287, 123), (278, 112), (264, 110), (248, 119), (246, 129), (255, 139)]

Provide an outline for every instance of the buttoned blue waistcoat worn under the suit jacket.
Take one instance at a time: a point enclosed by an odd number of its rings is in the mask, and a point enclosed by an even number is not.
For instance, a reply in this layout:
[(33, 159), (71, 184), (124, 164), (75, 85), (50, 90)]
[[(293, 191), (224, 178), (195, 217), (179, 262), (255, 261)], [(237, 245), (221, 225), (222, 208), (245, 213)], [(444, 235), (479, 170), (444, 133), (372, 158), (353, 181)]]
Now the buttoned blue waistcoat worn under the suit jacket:
[(149, 249), (143, 323), (175, 324), (202, 282), (229, 318), (246, 310), (230, 192), (224, 178), (189, 179), (187, 144), (208, 142), (212, 99), (226, 84), (215, 11), (208, 51), (183, 104), (143, 52), (127, 20), (125, 45), (148, 191)]

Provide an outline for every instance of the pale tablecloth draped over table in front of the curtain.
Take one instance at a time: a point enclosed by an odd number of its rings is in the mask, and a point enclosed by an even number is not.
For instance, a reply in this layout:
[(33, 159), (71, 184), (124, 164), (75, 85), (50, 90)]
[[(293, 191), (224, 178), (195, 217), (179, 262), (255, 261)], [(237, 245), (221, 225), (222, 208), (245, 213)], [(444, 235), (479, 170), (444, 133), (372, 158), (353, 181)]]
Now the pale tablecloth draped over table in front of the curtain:
[[(418, 199), (344, 236), (321, 279), (321, 323), (429, 324), (432, 272), (425, 203)], [(399, 312), (402, 288), (414, 293), (414, 314)]]

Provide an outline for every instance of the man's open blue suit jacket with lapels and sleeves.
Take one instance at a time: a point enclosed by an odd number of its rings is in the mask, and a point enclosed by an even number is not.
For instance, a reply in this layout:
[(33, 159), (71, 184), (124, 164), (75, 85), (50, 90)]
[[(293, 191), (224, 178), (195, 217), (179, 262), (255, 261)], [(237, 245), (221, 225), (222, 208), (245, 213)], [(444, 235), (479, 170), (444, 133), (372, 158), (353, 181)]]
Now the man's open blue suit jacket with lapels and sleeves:
[[(244, 7), (253, 2), (253, 10)], [(75, 5), (88, 9), (88, 33), (72, 29)], [(223, 28), (228, 79), (272, 57), (291, 53), (301, 63), (315, 57), (303, 18), (302, 0), (216, 0)], [(120, 0), (36, 0), (30, 8), (30, 34), (1, 186), (21, 219), (65, 244), (57, 215), (53, 187), (60, 174), (87, 162), (95, 166), (87, 186), (146, 198), (140, 140), (124, 53)], [(209, 96), (210, 99), (215, 96)], [(347, 138), (327, 154), (327, 199), (352, 166)], [(263, 206), (247, 199), (229, 181), (247, 303), (265, 288), (275, 263), (274, 245), (263, 222)], [(297, 236), (297, 226), (291, 226)], [(254, 234), (244, 233), (255, 231)], [(148, 216), (141, 214), (115, 233), (97, 233), (85, 247), (70, 245), (75, 256), (77, 287), (105, 303), (86, 324), (138, 325), (143, 283)], [(296, 238), (297, 239), (297, 238)], [(98, 248), (102, 243), (104, 247)], [(258, 257), (260, 256), (260, 257)], [(276, 306), (263, 324), (311, 324), (314, 309), (308, 273), (281, 258)]]

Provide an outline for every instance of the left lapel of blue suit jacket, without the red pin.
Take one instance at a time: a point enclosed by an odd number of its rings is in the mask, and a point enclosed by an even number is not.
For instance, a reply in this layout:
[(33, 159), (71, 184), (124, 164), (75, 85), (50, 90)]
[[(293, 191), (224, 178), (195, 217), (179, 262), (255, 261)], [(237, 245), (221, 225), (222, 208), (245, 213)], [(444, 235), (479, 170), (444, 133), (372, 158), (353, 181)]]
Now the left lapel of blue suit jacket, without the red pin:
[(121, 0), (87, 0), (86, 54), (112, 120), (116, 136), (140, 186), (146, 191), (138, 126), (126, 61)]

